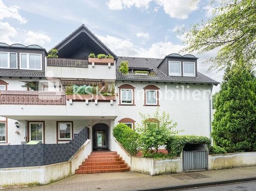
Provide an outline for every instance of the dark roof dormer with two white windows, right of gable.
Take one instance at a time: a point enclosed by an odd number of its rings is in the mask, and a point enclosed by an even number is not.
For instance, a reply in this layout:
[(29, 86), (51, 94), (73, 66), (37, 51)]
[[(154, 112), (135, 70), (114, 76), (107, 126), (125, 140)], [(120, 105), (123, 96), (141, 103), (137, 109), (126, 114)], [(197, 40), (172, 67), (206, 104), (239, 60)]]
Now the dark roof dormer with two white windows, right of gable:
[(158, 69), (165, 73), (166, 76), (197, 76), (198, 58), (191, 54), (180, 55), (172, 53), (163, 59), (158, 65)]

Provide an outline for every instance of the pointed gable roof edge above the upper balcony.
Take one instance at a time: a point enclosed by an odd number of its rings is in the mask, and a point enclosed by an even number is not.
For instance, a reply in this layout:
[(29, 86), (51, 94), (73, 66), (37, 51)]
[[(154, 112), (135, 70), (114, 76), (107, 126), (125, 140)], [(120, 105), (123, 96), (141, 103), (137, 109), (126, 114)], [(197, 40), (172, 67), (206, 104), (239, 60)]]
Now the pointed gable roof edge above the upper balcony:
[(114, 56), (116, 58), (116, 54), (113, 53), (103, 42), (99, 40), (84, 24), (82, 24), (78, 29), (72, 32), (69, 36), (67, 36), (64, 40), (62, 40), (58, 45), (53, 47), (53, 49), (60, 50), (64, 46), (66, 46), (70, 41), (76, 38), (81, 33), (86, 33), (98, 46), (100, 46), (106, 53)]

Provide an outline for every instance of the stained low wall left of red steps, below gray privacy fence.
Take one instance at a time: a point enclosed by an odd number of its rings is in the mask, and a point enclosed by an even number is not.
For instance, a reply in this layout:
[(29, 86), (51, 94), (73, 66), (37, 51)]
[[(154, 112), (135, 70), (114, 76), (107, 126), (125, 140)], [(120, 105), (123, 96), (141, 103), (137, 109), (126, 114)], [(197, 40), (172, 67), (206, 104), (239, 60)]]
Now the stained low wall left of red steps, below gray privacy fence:
[(88, 139), (67, 162), (38, 167), (0, 168), (0, 188), (52, 183), (70, 175), (91, 153)]

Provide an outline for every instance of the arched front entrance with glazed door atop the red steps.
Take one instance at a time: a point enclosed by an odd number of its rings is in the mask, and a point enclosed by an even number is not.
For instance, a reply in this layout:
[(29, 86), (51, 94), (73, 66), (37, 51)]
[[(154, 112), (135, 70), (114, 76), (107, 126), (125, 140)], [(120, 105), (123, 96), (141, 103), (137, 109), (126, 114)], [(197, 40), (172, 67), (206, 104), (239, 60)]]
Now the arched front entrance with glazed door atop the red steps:
[(98, 123), (92, 127), (93, 133), (93, 148), (107, 148), (107, 125)]

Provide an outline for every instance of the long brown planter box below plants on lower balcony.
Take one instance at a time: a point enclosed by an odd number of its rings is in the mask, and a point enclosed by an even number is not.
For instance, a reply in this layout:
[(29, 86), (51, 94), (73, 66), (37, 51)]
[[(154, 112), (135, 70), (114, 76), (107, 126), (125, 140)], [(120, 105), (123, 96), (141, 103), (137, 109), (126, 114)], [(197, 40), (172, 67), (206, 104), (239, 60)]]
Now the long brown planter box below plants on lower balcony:
[(116, 100), (116, 96), (100, 96), (100, 95), (80, 95), (80, 94), (74, 94), (74, 95), (66, 95), (66, 99), (72, 99), (72, 100), (77, 100), (77, 101), (81, 101), (81, 100), (100, 100), (100, 101), (110, 101)]

